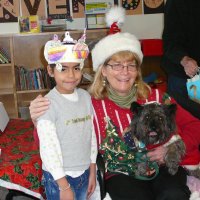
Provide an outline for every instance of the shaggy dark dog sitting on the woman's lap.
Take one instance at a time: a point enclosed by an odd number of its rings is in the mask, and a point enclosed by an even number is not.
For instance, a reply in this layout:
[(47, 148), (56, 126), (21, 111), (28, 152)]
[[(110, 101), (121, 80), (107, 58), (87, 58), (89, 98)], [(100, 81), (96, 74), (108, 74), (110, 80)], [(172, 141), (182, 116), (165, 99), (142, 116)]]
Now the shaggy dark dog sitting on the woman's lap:
[(130, 127), (132, 138), (141, 141), (145, 146), (155, 144), (167, 146), (165, 165), (170, 174), (176, 174), (181, 158), (185, 154), (185, 144), (176, 134), (176, 105), (158, 103), (139, 105), (134, 102), (131, 110), (134, 114)]

